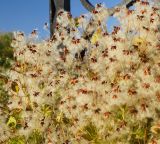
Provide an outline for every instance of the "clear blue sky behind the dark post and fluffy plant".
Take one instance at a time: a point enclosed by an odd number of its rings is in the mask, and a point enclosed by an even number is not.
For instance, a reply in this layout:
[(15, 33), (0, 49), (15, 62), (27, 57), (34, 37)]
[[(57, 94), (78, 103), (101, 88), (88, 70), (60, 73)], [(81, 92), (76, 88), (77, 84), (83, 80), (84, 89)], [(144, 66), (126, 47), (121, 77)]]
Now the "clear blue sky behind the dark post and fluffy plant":
[[(95, 5), (103, 3), (113, 7), (121, 0), (90, 0)], [(71, 0), (71, 13), (73, 17), (86, 14), (88, 11), (82, 6), (80, 0)], [(49, 0), (1, 0), (0, 3), (0, 32), (23, 31), (29, 34), (38, 29), (41, 36), (49, 32), (43, 29), (44, 23), (49, 21)], [(110, 18), (107, 22), (109, 29), (117, 24)]]

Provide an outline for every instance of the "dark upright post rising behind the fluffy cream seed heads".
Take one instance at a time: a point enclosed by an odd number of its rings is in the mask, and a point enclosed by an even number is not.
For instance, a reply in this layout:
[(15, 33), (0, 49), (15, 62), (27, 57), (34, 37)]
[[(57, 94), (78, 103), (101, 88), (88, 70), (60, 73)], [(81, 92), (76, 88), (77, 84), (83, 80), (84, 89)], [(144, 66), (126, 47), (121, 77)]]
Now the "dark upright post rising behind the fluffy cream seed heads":
[(70, 12), (70, 0), (50, 0), (49, 19), (50, 19), (50, 37), (53, 36), (56, 27), (56, 17), (60, 9)]

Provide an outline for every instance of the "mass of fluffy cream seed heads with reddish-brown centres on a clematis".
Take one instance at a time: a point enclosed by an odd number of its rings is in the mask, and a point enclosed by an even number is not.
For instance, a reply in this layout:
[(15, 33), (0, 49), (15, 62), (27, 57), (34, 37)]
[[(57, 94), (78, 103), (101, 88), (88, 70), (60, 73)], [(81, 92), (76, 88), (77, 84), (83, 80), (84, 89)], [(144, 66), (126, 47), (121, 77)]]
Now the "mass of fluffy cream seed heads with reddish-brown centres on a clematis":
[[(15, 32), (1, 142), (158, 144), (158, 11), (148, 1), (137, 1), (134, 10), (117, 8), (120, 26), (111, 33), (103, 6), (90, 18), (60, 11), (48, 40), (37, 42), (35, 31), (29, 38)], [(84, 36), (86, 28), (92, 35)]]

